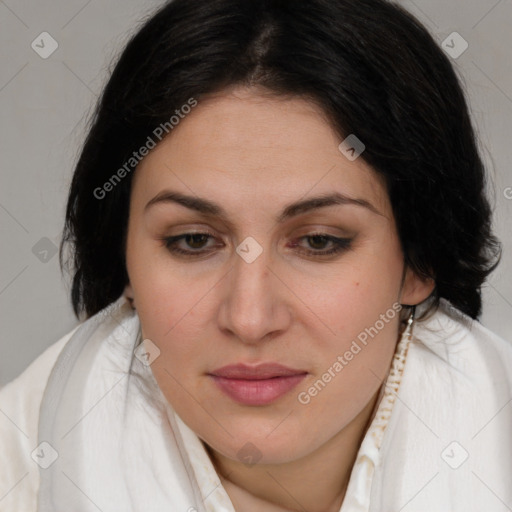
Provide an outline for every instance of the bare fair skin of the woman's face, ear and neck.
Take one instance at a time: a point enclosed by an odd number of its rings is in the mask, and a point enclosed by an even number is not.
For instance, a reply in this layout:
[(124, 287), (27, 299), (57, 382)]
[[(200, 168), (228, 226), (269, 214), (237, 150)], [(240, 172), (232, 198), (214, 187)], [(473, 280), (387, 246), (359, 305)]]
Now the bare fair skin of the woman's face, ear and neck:
[[(434, 287), (404, 268), (382, 180), (362, 158), (349, 161), (340, 142), (313, 103), (232, 88), (201, 98), (133, 178), (126, 294), (143, 337), (161, 351), (151, 365), (158, 385), (205, 443), (238, 511), (339, 510), (399, 315), (307, 405), (298, 394), (394, 303), (418, 304)], [(145, 210), (163, 190), (214, 201), (228, 218), (173, 202)], [(345, 204), (276, 222), (289, 203), (333, 191), (378, 213)], [(212, 238), (177, 243), (210, 251), (199, 257), (173, 254), (162, 241), (205, 231)], [(315, 233), (352, 241), (338, 254), (308, 255), (333, 247)], [(263, 249), (250, 264), (235, 251), (246, 237)], [(239, 362), (279, 362), (308, 375), (269, 405), (240, 405), (207, 375)], [(251, 466), (237, 456), (248, 442), (261, 456)]]

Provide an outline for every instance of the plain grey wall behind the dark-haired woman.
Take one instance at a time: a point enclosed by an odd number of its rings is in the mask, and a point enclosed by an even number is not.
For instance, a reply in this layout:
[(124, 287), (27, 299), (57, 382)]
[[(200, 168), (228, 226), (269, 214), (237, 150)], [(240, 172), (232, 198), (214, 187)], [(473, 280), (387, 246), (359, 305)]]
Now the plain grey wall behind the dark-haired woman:
[[(54, 254), (67, 188), (109, 66), (159, 3), (0, 0), (0, 386), (77, 324), (69, 279)], [(504, 245), (502, 263), (484, 289), (481, 320), (512, 341), (512, 2), (399, 3), (439, 44), (452, 32), (469, 44), (453, 62), (479, 129), (495, 231)], [(31, 47), (42, 32), (58, 43), (46, 59)], [(451, 39), (446, 44), (460, 48)]]

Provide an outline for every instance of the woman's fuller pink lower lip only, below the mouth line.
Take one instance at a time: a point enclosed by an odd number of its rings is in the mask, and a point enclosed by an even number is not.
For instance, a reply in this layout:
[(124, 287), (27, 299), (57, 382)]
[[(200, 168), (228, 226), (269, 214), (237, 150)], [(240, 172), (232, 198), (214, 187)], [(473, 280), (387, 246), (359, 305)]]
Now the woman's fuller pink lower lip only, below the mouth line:
[(291, 391), (305, 373), (262, 380), (227, 379), (211, 375), (215, 384), (235, 402), (244, 405), (267, 405)]

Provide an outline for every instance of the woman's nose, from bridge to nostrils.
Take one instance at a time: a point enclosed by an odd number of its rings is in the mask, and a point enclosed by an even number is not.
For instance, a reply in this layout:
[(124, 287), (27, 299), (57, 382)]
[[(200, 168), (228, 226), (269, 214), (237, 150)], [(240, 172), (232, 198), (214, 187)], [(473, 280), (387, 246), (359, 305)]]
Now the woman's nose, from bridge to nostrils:
[(245, 344), (259, 344), (287, 330), (290, 291), (263, 251), (251, 263), (235, 255), (233, 268), (223, 280), (219, 327)]

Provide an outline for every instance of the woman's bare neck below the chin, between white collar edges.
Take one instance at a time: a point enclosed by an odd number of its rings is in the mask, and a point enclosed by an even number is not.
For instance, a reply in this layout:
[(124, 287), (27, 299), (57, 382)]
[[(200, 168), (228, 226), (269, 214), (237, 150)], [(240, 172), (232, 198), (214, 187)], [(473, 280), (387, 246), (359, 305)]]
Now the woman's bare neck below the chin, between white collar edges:
[(375, 393), (344, 429), (316, 451), (292, 462), (248, 467), (207, 446), (235, 509), (247, 510), (244, 503), (250, 500), (255, 505), (268, 505), (265, 510), (269, 511), (338, 512), (379, 398), (380, 393)]

